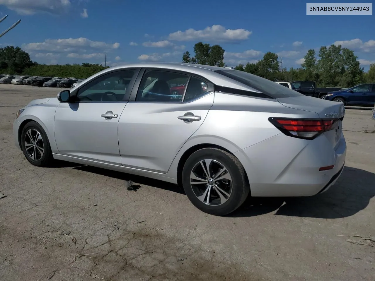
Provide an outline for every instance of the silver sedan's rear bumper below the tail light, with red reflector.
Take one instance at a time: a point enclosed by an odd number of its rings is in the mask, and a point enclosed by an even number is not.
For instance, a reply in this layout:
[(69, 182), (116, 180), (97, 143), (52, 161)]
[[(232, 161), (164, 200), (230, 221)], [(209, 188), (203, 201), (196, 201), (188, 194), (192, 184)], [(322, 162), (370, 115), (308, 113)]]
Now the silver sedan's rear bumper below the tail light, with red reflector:
[(309, 141), (279, 134), (235, 155), (246, 170), (252, 196), (294, 197), (323, 193), (335, 184), (346, 151), (342, 133), (335, 148), (324, 135)]

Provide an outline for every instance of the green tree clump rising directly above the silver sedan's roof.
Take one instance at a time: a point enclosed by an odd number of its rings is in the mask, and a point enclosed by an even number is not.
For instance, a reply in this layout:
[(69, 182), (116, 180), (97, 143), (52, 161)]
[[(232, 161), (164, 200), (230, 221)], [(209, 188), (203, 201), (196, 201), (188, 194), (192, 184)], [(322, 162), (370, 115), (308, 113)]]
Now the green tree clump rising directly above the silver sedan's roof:
[(224, 67), (224, 52), (220, 45), (210, 46), (208, 43), (198, 42), (194, 45), (195, 56), (190, 58), (190, 53), (186, 51), (182, 56), (182, 61)]

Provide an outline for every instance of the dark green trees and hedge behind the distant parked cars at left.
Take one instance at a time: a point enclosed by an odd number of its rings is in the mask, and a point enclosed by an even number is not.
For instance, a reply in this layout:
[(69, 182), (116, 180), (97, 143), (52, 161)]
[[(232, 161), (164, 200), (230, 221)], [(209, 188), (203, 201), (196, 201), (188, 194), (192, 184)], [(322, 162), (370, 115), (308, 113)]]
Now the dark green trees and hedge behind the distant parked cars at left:
[[(108, 67), (107, 67), (108, 68)], [(101, 64), (39, 64), (20, 47), (0, 48), (0, 74), (88, 78), (104, 69)]]

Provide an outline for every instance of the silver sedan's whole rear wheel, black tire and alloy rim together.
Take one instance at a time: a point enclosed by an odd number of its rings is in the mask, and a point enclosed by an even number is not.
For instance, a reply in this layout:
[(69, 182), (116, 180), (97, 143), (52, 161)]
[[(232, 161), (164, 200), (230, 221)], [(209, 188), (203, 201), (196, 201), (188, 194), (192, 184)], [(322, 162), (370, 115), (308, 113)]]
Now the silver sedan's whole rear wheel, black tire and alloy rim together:
[[(206, 167), (207, 163), (210, 167), (210, 178), (207, 177), (207, 172), (205, 172), (207, 169), (203, 170), (202, 167), (202, 165)], [(228, 173), (223, 171), (223, 175), (229, 174), (229, 177), (222, 178), (220, 169), (226, 169)], [(215, 173), (216, 177), (220, 175), (218, 181), (212, 181), (215, 178)], [(202, 179), (200, 181), (202, 183), (190, 184), (191, 175), (195, 176), (195, 178), (192, 178), (193, 181)], [(222, 179), (220, 180), (220, 178)], [(208, 188), (209, 184), (210, 188)], [(182, 170), (182, 185), (190, 202), (196, 208), (207, 214), (217, 216), (228, 215), (235, 211), (250, 193), (250, 187), (246, 182), (245, 172), (240, 161), (232, 154), (217, 148), (202, 148), (190, 155)], [(207, 204), (205, 202), (207, 202), (208, 192), (210, 199)]]

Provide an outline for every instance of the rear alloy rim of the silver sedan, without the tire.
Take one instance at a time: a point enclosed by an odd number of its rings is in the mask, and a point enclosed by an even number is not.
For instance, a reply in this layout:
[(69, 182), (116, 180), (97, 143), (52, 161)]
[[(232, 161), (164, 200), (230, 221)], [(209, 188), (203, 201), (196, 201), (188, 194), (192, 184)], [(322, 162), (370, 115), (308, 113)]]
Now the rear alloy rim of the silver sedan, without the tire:
[(201, 202), (211, 206), (225, 203), (233, 190), (228, 169), (213, 159), (201, 160), (195, 164), (190, 173), (190, 186)]

